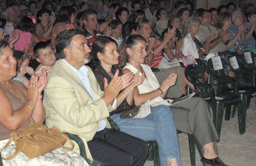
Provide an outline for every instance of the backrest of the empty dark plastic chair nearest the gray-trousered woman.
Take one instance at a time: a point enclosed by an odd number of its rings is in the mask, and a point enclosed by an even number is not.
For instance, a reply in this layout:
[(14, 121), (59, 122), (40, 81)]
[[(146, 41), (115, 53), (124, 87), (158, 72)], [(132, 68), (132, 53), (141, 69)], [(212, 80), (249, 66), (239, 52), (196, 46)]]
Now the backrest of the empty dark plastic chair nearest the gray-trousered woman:
[(207, 68), (196, 64), (189, 65), (185, 69), (186, 79), (193, 84), (196, 96), (212, 102), (215, 99), (215, 93), (213, 87), (207, 83), (205, 73), (208, 73)]

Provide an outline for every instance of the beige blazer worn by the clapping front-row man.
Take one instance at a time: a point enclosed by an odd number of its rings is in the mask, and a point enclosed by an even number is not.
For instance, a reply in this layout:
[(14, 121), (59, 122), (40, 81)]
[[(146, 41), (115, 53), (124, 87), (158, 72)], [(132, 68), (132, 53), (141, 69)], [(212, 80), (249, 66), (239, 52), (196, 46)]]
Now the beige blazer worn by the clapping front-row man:
[[(108, 112), (114, 108), (111, 105), (107, 107), (101, 99), (104, 92), (90, 68), (88, 77), (96, 101), (93, 101), (86, 87), (67, 64), (62, 59), (58, 60), (47, 77), (43, 105), (46, 111), (46, 125), (49, 128), (56, 125), (62, 132), (79, 135), (86, 146), (87, 158), (92, 160), (87, 141), (92, 140), (95, 135), (99, 120), (108, 117)], [(108, 121), (107, 127), (110, 128)], [(73, 151), (79, 153), (77, 144)]]

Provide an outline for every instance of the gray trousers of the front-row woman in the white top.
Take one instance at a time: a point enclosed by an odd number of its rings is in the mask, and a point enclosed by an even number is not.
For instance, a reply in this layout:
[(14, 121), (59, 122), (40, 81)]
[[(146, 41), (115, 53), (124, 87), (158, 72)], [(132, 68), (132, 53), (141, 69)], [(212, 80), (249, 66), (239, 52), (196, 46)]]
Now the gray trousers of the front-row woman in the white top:
[(190, 98), (170, 106), (176, 129), (193, 134), (199, 154), (204, 154), (203, 146), (214, 142), (217, 153), (216, 141), (219, 140), (213, 124), (213, 110), (202, 98)]

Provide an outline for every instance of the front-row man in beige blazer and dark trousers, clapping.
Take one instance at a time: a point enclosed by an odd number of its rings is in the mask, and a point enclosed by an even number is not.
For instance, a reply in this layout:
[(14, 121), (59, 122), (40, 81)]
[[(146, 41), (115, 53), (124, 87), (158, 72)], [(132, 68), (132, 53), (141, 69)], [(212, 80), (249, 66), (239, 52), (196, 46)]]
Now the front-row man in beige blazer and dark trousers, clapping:
[[(46, 125), (57, 125), (62, 132), (79, 135), (85, 143), (87, 158), (106, 165), (143, 165), (148, 146), (139, 138), (110, 129), (105, 119), (116, 108), (116, 96), (128, 86), (131, 74), (117, 77), (101, 91), (89, 62), (90, 49), (84, 32), (61, 32), (55, 41), (57, 62), (48, 75), (43, 104)], [(112, 104), (112, 105), (111, 105)], [(73, 150), (78, 151), (75, 146)]]

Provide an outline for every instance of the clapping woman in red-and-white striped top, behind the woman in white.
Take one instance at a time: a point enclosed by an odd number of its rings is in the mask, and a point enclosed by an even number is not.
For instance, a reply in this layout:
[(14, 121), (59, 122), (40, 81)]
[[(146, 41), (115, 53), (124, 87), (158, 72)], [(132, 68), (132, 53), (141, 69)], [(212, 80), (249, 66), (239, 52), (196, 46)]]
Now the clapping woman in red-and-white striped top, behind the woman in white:
[[(139, 20), (139, 32), (143, 38), (145, 38), (146, 43), (148, 43), (148, 47), (146, 52), (148, 56), (146, 56), (145, 64), (148, 64), (151, 68), (157, 68), (163, 56), (163, 49), (172, 49), (173, 43), (170, 39), (175, 34), (175, 28), (169, 30), (166, 35), (164, 35), (163, 41), (160, 41), (155, 38), (151, 38), (151, 26), (146, 19)], [(175, 86), (172, 86), (169, 90), (168, 97), (179, 98), (180, 96), (186, 94), (186, 80), (184, 77), (184, 68), (183, 67), (172, 67), (167, 68), (166, 70), (156, 71), (154, 74), (158, 79), (158, 82), (162, 83), (170, 73), (175, 73), (178, 75), (178, 79), (176, 81)]]

